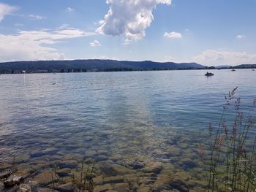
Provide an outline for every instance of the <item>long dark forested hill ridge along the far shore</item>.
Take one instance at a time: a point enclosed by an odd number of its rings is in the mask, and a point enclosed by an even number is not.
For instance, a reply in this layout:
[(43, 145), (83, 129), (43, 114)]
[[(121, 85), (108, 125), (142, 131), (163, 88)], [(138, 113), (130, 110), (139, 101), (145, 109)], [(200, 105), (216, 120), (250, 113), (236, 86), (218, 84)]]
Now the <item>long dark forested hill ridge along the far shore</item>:
[(26, 72), (86, 72), (86, 71), (133, 71), (133, 70), (171, 70), (204, 69), (196, 63), (176, 64), (154, 61), (116, 61), (116, 60), (72, 60), (72, 61), (14, 61), (0, 63), (1, 73)]

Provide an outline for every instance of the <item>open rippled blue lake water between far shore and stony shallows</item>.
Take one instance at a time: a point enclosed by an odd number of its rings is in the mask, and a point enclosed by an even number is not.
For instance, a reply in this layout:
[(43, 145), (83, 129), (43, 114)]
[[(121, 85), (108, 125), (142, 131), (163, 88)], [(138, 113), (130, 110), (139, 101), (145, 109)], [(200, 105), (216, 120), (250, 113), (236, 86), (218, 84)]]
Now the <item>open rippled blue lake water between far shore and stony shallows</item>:
[[(191, 154), (208, 123), (219, 122), (228, 91), (238, 86), (244, 107), (256, 98), (252, 70), (213, 72), (1, 75), (0, 158), (28, 154), (26, 163), (35, 164), (88, 151), (96, 159), (104, 151), (108, 161), (121, 155), (178, 165), (184, 156), (196, 158)], [(180, 151), (166, 155), (172, 146)]]

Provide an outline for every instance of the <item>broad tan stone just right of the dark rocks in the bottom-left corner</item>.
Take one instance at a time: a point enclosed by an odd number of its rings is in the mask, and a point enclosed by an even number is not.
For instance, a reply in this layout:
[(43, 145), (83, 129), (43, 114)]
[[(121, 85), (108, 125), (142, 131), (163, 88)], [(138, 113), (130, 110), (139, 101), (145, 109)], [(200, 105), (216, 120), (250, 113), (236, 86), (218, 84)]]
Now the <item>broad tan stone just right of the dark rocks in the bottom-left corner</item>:
[(45, 170), (42, 173), (37, 174), (33, 180), (39, 183), (41, 186), (46, 186), (49, 183), (54, 183), (59, 180), (59, 176), (55, 175), (52, 171)]

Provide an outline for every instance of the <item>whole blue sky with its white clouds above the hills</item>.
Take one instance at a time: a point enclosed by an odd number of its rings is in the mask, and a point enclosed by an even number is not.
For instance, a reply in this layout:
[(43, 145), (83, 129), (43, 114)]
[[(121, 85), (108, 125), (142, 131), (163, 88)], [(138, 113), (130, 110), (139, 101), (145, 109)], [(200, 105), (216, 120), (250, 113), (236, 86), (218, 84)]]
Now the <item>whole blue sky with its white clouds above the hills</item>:
[(0, 0), (0, 62), (256, 64), (256, 0)]

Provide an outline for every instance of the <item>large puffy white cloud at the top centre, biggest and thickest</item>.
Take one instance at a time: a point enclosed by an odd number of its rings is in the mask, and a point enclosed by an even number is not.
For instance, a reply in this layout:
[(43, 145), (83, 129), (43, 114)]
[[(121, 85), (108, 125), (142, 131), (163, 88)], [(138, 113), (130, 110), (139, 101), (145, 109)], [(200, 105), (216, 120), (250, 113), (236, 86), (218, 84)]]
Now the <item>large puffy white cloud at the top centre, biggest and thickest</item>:
[(124, 34), (126, 42), (145, 36), (145, 30), (151, 25), (153, 9), (157, 4), (171, 4), (171, 0), (107, 0), (110, 4), (108, 14), (97, 28), (99, 34), (120, 36)]

